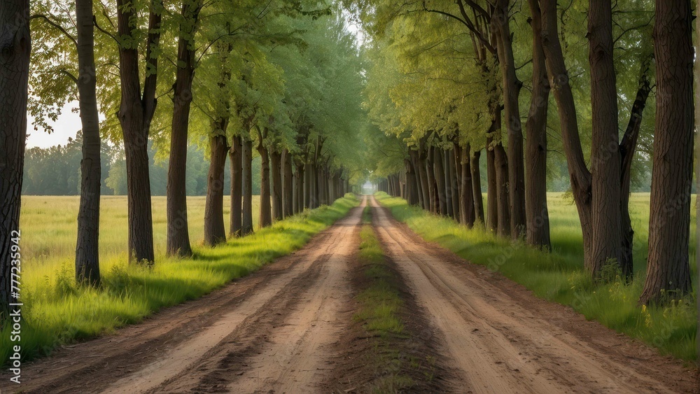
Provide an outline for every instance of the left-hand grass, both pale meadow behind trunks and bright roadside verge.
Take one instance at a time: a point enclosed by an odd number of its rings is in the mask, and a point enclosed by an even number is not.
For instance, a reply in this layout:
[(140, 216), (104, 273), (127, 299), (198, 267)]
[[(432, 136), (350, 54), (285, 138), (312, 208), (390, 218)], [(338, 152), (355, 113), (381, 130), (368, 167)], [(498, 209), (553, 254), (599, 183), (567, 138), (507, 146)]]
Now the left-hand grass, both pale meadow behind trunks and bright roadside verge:
[[(22, 356), (30, 359), (120, 326), (136, 323), (163, 307), (193, 300), (302, 247), (314, 234), (358, 204), (347, 195), (332, 206), (307, 210), (230, 239), (202, 246), (204, 197), (188, 198), (195, 257), (165, 258), (165, 197), (153, 199), (156, 260), (153, 267), (127, 264), (126, 197), (102, 197), (100, 269), (102, 287), (75, 284), (76, 216), (79, 197), (23, 197)], [(259, 199), (253, 207), (257, 213)], [(228, 211), (224, 213), (228, 227)], [(0, 360), (8, 360), (10, 335), (0, 335)]]

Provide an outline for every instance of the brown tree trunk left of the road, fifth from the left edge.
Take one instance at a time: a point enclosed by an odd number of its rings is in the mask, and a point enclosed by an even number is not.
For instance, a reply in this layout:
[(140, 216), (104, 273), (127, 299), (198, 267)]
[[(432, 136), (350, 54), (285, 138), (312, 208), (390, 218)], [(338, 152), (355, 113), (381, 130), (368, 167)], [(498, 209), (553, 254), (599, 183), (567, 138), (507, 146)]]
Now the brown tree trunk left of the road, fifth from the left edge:
[[(219, 132), (228, 127), (228, 118), (218, 120)], [(223, 178), (226, 168), (226, 153), (229, 150), (225, 134), (209, 137), (211, 159), (207, 176), (207, 200), (204, 205), (204, 245), (215, 246), (226, 241), (223, 225)]]

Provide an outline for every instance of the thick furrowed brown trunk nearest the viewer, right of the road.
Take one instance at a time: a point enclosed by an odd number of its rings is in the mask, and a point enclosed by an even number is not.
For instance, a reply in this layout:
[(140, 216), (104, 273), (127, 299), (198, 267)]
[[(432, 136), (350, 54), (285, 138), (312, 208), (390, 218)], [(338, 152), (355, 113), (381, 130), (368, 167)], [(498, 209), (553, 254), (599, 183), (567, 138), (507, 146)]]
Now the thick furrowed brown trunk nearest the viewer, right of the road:
[(688, 243), (693, 164), (692, 11), (687, 0), (657, 0), (654, 24), (657, 117), (649, 261), (640, 303), (692, 291)]

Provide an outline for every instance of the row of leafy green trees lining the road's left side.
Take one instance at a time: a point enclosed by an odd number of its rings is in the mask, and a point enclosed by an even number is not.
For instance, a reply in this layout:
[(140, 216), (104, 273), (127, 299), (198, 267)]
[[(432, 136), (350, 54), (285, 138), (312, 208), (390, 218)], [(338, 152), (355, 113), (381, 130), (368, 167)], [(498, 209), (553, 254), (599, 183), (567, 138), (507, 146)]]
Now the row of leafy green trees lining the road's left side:
[[(76, 279), (85, 286), (100, 283), (104, 139), (124, 149), (130, 261), (149, 265), (155, 260), (151, 145), (169, 155), (172, 256), (193, 253), (185, 199), (191, 141), (209, 146), (204, 243), (210, 246), (253, 232), (251, 171), (258, 155), (261, 226), (329, 204), (359, 183), (362, 64), (339, 15), (332, 3), (311, 0), (36, 0), (31, 9), (27, 1), (0, 1), (1, 309), (12, 301), (8, 247), (19, 224), (27, 108), (36, 132), (50, 132), (60, 108), (79, 103)], [(230, 190), (224, 190), (227, 160)]]

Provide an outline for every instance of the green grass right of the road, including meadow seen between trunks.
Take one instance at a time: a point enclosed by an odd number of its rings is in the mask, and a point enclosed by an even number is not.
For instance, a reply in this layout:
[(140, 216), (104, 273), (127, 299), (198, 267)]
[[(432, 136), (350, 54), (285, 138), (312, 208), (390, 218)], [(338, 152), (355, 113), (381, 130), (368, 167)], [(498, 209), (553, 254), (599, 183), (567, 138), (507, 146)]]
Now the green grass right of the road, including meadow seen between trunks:
[[(442, 218), (405, 200), (377, 193), (379, 202), (391, 209), (393, 216), (428, 241), (449, 248), (465, 260), (484, 265), (517, 281), (538, 297), (569, 305), (589, 320), (631, 337), (643, 340), (682, 360), (695, 360), (697, 311), (697, 267), (695, 265), (695, 209), (692, 209), (690, 260), (694, 296), (675, 300), (670, 307), (639, 307), (642, 292), (649, 226), (650, 195), (634, 194), (631, 216), (635, 230), (634, 279), (626, 284), (613, 278), (610, 283), (596, 284), (583, 268), (582, 232), (576, 207), (561, 193), (549, 194), (549, 219), (552, 253), (529, 248), (522, 243), (497, 239), (481, 229), (468, 230), (449, 218)], [(693, 207), (696, 200), (693, 199)]]

